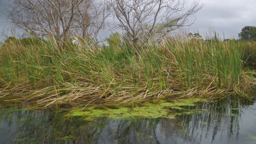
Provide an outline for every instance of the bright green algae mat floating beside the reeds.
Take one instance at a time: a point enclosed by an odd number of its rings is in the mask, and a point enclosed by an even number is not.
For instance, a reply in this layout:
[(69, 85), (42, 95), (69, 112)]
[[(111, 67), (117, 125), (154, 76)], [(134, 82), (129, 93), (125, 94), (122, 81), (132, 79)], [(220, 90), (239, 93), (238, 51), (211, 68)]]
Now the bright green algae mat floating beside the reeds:
[(191, 113), (197, 110), (185, 109), (187, 106), (195, 106), (195, 103), (202, 102), (203, 99), (187, 99), (176, 102), (167, 102), (165, 100), (155, 100), (138, 105), (119, 104), (89, 107), (86, 109), (75, 109), (66, 116), (82, 116), (86, 121), (92, 121), (97, 117), (109, 117), (113, 119), (127, 119), (132, 117), (147, 118), (175, 118), (182, 113)]

